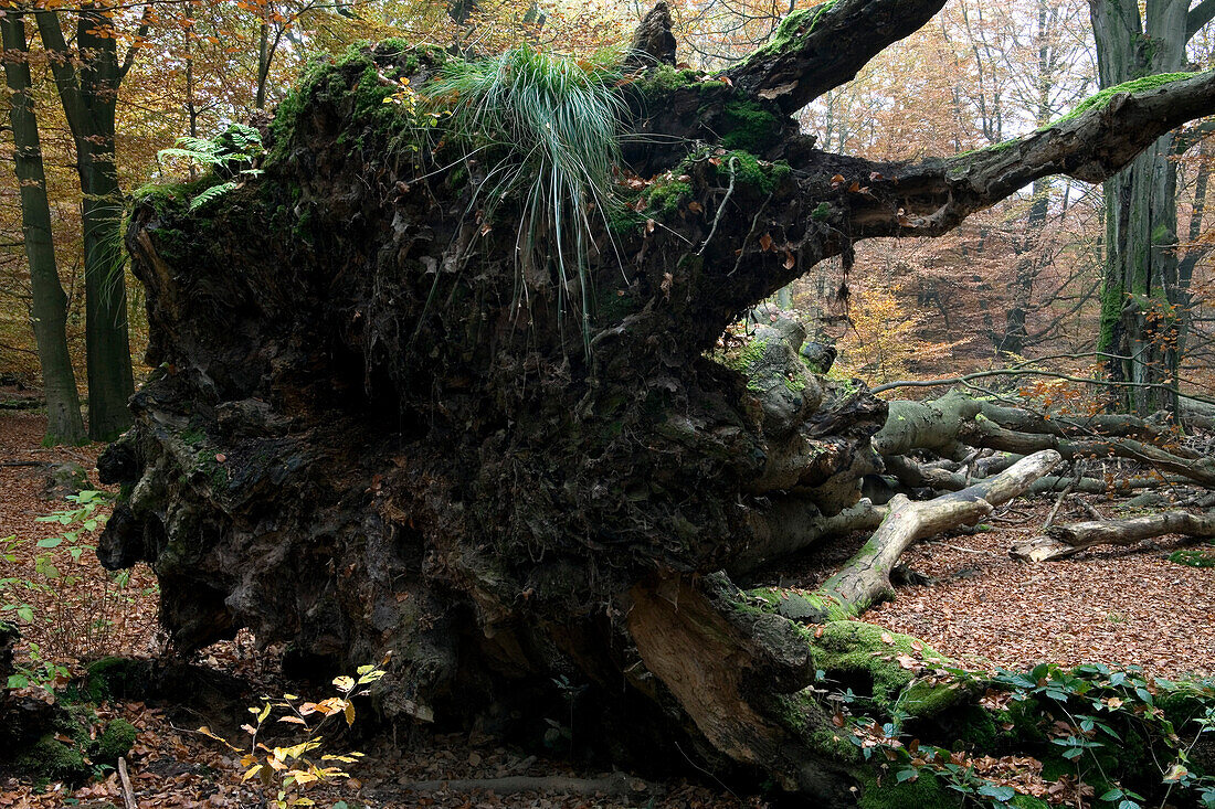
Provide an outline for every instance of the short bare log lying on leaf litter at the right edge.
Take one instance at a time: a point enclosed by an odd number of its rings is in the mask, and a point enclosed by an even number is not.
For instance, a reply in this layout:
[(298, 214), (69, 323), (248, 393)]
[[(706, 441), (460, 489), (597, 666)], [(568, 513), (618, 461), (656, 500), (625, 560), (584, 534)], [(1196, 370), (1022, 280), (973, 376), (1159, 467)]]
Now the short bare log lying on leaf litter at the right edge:
[(1063, 559), (1097, 545), (1134, 545), (1136, 542), (1182, 533), (1189, 537), (1215, 537), (1215, 514), (1165, 511), (1129, 520), (1092, 520), (1073, 525), (1055, 525), (1046, 536), (1013, 543), (1008, 554), (1027, 561)]

